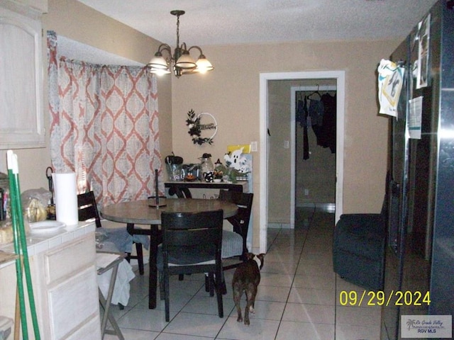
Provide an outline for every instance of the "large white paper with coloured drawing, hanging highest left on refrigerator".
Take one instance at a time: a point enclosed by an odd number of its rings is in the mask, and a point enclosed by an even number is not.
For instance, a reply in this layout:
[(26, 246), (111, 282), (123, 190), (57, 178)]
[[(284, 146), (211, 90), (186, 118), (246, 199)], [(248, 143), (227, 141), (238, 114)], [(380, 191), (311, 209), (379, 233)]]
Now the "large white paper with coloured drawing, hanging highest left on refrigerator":
[(377, 71), (380, 113), (397, 117), (397, 105), (404, 82), (404, 67), (382, 59)]

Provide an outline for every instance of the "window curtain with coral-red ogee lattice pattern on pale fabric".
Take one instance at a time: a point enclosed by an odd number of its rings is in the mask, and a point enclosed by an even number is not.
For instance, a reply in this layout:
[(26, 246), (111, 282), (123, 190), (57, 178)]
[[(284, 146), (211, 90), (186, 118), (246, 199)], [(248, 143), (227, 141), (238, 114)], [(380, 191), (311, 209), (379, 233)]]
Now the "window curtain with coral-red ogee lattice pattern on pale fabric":
[(154, 193), (154, 170), (162, 174), (155, 76), (60, 57), (54, 32), (48, 58), (54, 171), (75, 171), (77, 190), (93, 190), (100, 205)]

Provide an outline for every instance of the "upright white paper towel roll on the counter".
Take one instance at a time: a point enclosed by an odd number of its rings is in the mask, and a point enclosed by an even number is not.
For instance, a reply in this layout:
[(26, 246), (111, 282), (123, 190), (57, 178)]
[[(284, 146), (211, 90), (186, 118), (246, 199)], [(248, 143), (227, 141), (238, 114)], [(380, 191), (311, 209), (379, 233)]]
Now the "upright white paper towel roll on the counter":
[(55, 215), (58, 222), (66, 225), (77, 225), (79, 212), (77, 211), (76, 174), (52, 174), (55, 191)]

